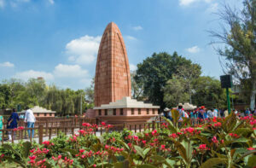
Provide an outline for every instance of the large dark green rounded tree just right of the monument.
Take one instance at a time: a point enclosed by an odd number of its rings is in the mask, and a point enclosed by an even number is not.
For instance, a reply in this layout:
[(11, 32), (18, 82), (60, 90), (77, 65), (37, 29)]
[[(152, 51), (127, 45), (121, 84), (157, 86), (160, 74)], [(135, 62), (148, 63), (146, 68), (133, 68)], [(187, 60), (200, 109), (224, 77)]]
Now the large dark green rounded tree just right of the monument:
[(143, 84), (143, 96), (147, 97), (147, 101), (160, 105), (163, 109), (166, 107), (164, 101), (166, 82), (172, 78), (173, 74), (177, 74), (179, 69), (189, 68), (192, 65), (194, 65), (192, 61), (177, 55), (177, 52), (172, 55), (166, 52), (154, 53), (137, 65), (135, 80), (137, 84)]

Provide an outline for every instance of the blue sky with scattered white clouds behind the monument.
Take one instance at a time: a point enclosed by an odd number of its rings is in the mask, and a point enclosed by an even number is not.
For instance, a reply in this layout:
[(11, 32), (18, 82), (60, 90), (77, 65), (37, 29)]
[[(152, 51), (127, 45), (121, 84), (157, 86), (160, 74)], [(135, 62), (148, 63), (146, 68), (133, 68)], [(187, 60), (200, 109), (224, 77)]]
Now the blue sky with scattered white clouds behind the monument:
[[(242, 1), (226, 0), (242, 8)], [(222, 74), (208, 30), (219, 30), (224, 0), (0, 0), (0, 80), (44, 77), (74, 90), (90, 85), (109, 22), (125, 38), (131, 69), (154, 52), (199, 63)]]

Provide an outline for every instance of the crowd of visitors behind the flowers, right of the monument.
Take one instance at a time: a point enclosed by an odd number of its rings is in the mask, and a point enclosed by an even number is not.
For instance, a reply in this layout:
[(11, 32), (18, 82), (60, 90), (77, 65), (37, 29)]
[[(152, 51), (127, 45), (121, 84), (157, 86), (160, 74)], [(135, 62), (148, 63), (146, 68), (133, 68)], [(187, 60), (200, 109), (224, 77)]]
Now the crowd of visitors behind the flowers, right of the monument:
[[(172, 109), (165, 108), (163, 115), (167, 119), (172, 120)], [(228, 109), (222, 110), (218, 108), (210, 108), (207, 109), (204, 106), (195, 108), (193, 110), (186, 110), (183, 108), (183, 105), (180, 103), (177, 107), (177, 111), (179, 113), (179, 121), (183, 121), (183, 118), (189, 118), (191, 119), (192, 124), (198, 124), (201, 122), (205, 122), (207, 119), (213, 119), (213, 118), (226, 118), (229, 116)], [(251, 110), (247, 108), (245, 111), (238, 111), (236, 109), (232, 109), (232, 111), (238, 116), (238, 117), (245, 117), (249, 116), (251, 114), (256, 116), (256, 109)]]

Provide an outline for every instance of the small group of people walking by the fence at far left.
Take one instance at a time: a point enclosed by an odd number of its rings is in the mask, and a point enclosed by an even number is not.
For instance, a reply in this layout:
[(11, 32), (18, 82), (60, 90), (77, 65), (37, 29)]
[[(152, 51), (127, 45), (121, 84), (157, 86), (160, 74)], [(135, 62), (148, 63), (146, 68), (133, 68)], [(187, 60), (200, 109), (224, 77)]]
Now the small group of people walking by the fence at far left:
[[(26, 128), (34, 128), (35, 122), (36, 122), (36, 118), (32, 112), (32, 110), (29, 107), (26, 107), (26, 113), (24, 116), (24, 122), (26, 123)], [(16, 111), (15, 108), (13, 108), (13, 111), (11, 113), (11, 115), (9, 116), (9, 119), (7, 119), (7, 129), (10, 129), (8, 131), (8, 135), (9, 135), (9, 141), (12, 141), (12, 135), (11, 135), (11, 129), (16, 129), (18, 128), (18, 121), (20, 120), (20, 117)], [(3, 116), (0, 115), (0, 130), (3, 130), (3, 125), (4, 124), (4, 119)], [(27, 130), (28, 136), (34, 136), (34, 130)], [(2, 141), (2, 131), (0, 131), (0, 141)], [(32, 134), (32, 135), (31, 135)], [(13, 138), (15, 138), (15, 134), (13, 136)]]

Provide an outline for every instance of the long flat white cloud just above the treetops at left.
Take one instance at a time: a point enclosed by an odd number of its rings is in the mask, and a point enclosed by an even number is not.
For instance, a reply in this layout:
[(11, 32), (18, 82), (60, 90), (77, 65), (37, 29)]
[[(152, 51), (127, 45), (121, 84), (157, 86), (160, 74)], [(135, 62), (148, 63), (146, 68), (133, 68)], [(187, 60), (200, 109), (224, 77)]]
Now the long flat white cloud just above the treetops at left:
[(17, 72), (15, 74), (15, 78), (20, 78), (25, 81), (29, 78), (38, 78), (38, 77), (43, 77), (46, 81), (51, 81), (54, 79), (54, 76), (51, 73), (43, 72), (43, 71), (29, 70), (25, 72)]

